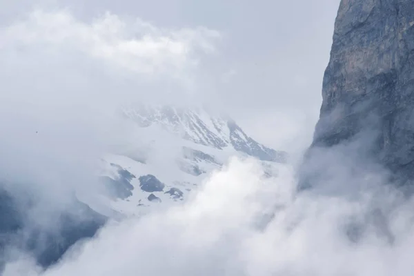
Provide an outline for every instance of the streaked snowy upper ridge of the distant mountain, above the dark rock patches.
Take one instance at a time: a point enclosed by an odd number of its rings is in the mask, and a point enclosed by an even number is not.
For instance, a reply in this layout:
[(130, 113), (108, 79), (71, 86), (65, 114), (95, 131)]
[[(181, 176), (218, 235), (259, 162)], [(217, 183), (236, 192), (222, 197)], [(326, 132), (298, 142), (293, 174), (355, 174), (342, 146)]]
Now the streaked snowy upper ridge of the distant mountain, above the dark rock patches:
[(124, 115), (142, 128), (161, 126), (195, 144), (219, 150), (230, 147), (265, 161), (284, 162), (287, 158), (286, 152), (268, 148), (246, 135), (230, 117), (205, 108), (137, 104), (125, 108)]

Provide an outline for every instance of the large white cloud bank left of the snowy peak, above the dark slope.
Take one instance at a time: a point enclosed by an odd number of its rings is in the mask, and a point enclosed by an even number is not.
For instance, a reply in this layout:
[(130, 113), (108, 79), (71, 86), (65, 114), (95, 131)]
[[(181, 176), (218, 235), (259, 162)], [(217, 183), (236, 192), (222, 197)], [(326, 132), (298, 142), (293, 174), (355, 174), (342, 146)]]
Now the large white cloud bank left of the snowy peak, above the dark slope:
[(59, 206), (73, 188), (97, 188), (97, 160), (128, 139), (117, 108), (186, 101), (219, 33), (37, 10), (3, 26), (0, 37), (0, 181)]

